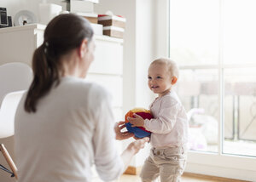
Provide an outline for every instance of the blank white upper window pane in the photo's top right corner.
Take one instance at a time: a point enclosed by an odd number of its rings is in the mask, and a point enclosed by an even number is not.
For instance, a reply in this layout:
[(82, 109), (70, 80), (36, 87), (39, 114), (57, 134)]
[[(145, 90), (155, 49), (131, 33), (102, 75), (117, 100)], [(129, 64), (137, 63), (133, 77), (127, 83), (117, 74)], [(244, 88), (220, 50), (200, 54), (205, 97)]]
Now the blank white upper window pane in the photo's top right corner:
[(256, 60), (256, 1), (224, 1), (224, 64)]

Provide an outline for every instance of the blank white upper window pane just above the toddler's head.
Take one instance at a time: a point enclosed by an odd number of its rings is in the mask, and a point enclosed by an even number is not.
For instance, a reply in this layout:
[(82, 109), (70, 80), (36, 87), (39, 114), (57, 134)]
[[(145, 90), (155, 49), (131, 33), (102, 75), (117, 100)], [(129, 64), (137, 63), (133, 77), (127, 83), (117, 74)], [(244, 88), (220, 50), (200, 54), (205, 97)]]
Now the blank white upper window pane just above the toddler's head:
[(172, 0), (170, 55), (179, 65), (218, 64), (219, 1)]

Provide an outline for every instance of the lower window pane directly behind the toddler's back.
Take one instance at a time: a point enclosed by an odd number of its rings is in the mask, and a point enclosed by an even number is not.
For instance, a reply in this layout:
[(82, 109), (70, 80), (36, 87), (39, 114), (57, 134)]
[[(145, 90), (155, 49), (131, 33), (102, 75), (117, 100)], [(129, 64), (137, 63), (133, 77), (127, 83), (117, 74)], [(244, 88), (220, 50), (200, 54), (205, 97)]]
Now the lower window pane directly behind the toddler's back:
[(177, 93), (188, 112), (189, 147), (218, 151), (218, 70), (182, 70)]

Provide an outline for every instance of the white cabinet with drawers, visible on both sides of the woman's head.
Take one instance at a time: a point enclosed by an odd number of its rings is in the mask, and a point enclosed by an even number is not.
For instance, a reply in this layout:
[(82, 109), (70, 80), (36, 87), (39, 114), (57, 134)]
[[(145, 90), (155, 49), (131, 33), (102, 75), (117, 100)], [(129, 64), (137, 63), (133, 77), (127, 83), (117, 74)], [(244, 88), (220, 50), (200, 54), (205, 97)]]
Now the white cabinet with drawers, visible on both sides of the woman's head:
[[(45, 27), (31, 24), (0, 29), (0, 65), (22, 62), (32, 66), (32, 54), (44, 42)], [(113, 94), (115, 117), (123, 119), (123, 40), (97, 35), (95, 40), (95, 60), (86, 79), (102, 84)]]

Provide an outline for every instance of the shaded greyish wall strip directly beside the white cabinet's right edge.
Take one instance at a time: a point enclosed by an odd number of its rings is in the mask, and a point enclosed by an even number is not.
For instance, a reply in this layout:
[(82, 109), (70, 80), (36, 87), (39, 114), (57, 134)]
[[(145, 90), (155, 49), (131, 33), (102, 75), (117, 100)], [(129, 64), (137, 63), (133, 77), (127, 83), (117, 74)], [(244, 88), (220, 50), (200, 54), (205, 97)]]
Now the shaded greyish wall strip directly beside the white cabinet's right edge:
[(129, 111), (135, 101), (135, 67), (136, 67), (136, 1), (135, 0), (102, 0), (95, 6), (97, 14), (105, 14), (111, 10), (113, 14), (122, 15), (126, 19), (124, 37), (124, 111)]

